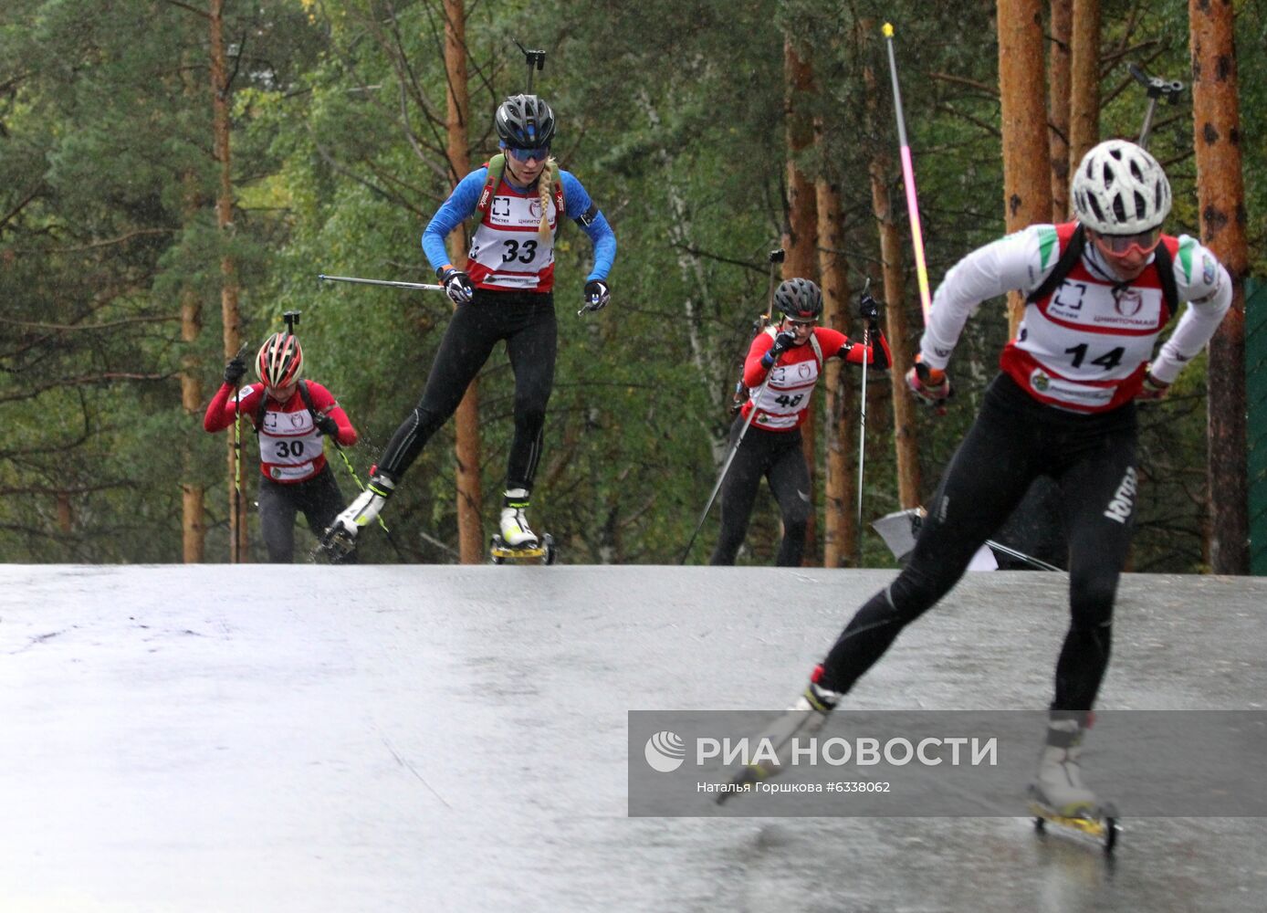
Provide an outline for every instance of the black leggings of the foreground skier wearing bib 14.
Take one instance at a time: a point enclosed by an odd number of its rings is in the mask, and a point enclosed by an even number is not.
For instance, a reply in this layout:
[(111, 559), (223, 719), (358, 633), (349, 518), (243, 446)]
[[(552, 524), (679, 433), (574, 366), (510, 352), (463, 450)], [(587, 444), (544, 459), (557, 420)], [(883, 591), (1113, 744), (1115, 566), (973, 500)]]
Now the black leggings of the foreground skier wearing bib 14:
[(1109, 667), (1112, 604), (1135, 507), (1135, 406), (1077, 415), (1043, 406), (1007, 375), (986, 392), (981, 415), (946, 467), (906, 568), (854, 615), (821, 683), (848, 691), (902, 628), (963, 576), (1030, 482), (1060, 489), (1069, 541), (1069, 631), (1055, 667), (1054, 710), (1086, 711)]

